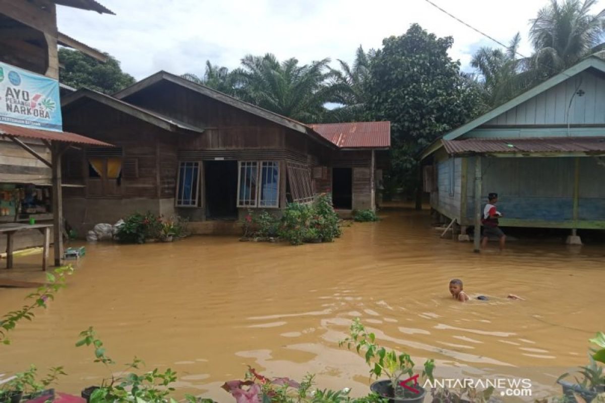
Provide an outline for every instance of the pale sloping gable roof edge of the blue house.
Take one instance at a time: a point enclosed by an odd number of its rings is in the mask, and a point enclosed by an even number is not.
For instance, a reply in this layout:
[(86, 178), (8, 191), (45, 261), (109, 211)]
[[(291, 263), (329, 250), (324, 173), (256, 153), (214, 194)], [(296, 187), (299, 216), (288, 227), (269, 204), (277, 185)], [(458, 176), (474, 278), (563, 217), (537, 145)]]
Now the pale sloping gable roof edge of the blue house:
[(454, 139), (462, 136), (463, 134), (466, 134), (469, 131), (476, 129), (477, 127), (481, 126), (482, 124), (487, 123), (488, 121), (492, 120), (493, 118), (498, 117), (499, 115), (509, 111), (510, 109), (515, 108), (516, 106), (522, 104), (523, 102), (526, 102), (527, 100), (535, 97), (536, 95), (541, 94), (542, 92), (547, 91), (548, 89), (554, 87), (555, 85), (558, 85), (559, 83), (562, 83), (565, 80), (581, 73), (582, 71), (584, 71), (588, 68), (594, 68), (594, 69), (597, 69), (597, 70), (605, 73), (605, 61), (596, 56), (587, 57), (586, 59), (582, 60), (581, 62), (577, 63), (576, 65), (571, 66), (570, 68), (557, 74), (554, 77), (551, 77), (550, 79), (546, 80), (545, 82), (540, 83), (540, 84), (534, 86), (533, 88), (528, 89), (527, 91), (523, 92), (523, 94), (517, 95), (517, 97), (512, 98), (510, 101), (503, 103), (502, 105), (498, 106), (497, 108), (492, 109), (491, 111), (487, 112), (486, 114), (483, 114), (480, 117), (478, 117), (474, 120), (471, 120), (466, 124), (463, 124), (462, 126), (458, 127), (457, 129), (444, 134), (442, 137), (438, 138), (430, 146), (428, 146), (422, 152), (422, 156), (420, 158), (424, 159), (428, 155), (430, 155), (431, 153), (433, 153), (437, 149), (439, 149), (442, 146), (442, 143), (440, 140), (442, 140), (442, 139), (443, 140), (454, 140)]

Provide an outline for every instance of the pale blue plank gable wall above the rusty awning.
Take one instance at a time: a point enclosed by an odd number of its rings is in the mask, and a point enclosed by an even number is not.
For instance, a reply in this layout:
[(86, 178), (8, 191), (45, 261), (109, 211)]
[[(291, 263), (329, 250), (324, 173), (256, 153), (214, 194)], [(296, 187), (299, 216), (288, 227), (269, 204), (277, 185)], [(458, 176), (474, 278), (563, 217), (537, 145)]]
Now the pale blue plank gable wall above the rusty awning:
[[(584, 94), (574, 96), (579, 89)], [(584, 71), (493, 118), (483, 126), (567, 124), (570, 100), (569, 123), (605, 124), (605, 78), (603, 74)]]

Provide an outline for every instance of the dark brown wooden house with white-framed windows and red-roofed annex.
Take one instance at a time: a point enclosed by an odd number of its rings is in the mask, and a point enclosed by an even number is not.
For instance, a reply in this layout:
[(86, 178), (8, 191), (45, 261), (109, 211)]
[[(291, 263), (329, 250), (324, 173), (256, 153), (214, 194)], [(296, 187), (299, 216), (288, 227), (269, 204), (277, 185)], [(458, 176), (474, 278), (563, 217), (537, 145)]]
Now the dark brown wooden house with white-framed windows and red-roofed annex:
[(66, 218), (80, 231), (134, 211), (231, 232), (249, 209), (279, 211), (334, 193), (344, 214), (375, 208), (388, 122), (307, 125), (160, 71), (114, 94), (80, 89), (65, 127), (117, 147), (64, 156)]

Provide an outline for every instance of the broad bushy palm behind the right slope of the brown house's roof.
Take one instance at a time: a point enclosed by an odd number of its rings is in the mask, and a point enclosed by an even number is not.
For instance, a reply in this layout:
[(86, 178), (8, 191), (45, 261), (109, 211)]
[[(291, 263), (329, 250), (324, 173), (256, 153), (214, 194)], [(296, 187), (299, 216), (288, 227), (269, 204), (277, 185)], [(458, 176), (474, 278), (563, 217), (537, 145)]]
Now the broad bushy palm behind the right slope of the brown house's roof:
[(275, 55), (248, 55), (233, 71), (237, 96), (286, 117), (315, 123), (322, 121), (325, 103), (333, 98), (328, 80), (330, 59), (298, 65), (295, 58), (279, 62)]

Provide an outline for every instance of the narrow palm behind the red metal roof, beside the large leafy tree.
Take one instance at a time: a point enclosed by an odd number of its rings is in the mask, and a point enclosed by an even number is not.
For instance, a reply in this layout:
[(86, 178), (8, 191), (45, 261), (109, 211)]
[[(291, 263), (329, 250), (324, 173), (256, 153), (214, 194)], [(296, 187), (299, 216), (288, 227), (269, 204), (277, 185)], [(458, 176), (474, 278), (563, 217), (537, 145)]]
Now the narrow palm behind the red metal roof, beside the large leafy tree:
[(365, 53), (359, 46), (355, 52), (353, 66), (338, 59), (339, 70), (332, 69), (334, 102), (342, 106), (329, 112), (331, 120), (360, 121), (364, 118), (367, 92), (365, 84), (370, 77), (370, 62), (373, 52)]

